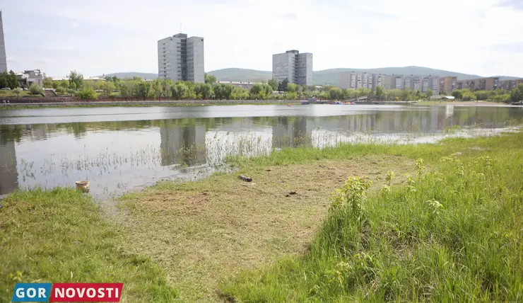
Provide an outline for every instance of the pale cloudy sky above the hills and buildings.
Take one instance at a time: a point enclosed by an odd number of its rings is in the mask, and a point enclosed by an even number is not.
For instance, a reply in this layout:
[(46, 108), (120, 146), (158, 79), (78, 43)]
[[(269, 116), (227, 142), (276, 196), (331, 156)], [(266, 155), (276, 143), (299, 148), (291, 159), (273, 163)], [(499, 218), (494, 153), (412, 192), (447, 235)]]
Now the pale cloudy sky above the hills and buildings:
[(523, 0), (2, 0), (8, 69), (158, 72), (157, 41), (205, 38), (205, 71), (421, 66), (523, 77)]

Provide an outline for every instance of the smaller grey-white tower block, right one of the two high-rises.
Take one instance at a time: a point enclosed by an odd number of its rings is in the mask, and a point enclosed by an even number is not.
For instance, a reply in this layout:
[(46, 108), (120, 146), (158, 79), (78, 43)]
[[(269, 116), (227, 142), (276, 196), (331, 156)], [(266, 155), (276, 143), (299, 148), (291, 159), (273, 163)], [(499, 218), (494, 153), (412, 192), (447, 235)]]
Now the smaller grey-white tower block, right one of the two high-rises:
[(272, 76), (279, 82), (287, 79), (301, 86), (312, 85), (312, 54), (288, 50), (272, 55)]

